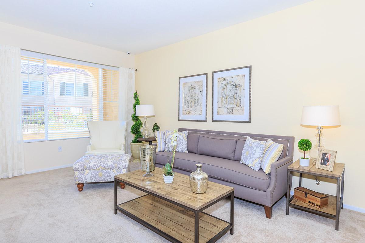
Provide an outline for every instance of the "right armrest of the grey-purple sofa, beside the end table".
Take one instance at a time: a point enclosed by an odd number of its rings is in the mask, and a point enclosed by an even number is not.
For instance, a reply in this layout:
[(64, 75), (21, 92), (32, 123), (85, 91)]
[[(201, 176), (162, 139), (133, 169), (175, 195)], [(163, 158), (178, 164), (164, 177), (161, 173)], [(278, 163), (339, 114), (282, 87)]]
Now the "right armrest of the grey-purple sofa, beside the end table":
[[(292, 163), (293, 157), (287, 156), (271, 164), (270, 184), (266, 189), (266, 206), (271, 207), (287, 192), (288, 166)], [(292, 177), (289, 180), (291, 179)]]

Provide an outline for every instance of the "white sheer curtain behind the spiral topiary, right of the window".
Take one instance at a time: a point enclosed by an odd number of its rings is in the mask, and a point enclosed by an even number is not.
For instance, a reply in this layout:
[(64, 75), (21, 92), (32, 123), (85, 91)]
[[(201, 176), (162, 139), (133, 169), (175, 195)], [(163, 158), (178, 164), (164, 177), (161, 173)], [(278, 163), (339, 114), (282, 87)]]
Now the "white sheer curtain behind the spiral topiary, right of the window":
[(126, 153), (131, 154), (129, 143), (132, 141), (131, 126), (133, 113), (134, 69), (119, 68), (119, 119), (127, 121)]

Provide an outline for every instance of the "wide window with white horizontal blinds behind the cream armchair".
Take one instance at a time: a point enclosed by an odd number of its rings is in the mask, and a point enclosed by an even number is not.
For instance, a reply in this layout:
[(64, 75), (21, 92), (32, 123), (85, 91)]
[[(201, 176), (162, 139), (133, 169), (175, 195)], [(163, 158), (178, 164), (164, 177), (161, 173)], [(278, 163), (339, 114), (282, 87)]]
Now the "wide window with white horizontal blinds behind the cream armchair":
[(88, 120), (118, 119), (119, 68), (22, 51), (23, 140), (88, 137)]

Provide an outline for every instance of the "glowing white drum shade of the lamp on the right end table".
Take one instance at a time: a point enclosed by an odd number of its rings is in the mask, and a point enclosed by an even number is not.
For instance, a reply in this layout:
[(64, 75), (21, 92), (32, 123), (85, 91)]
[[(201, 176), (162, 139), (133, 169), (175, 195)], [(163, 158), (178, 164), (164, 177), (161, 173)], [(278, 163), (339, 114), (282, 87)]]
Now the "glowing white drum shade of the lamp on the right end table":
[(339, 106), (303, 106), (301, 125), (308, 126), (339, 126)]

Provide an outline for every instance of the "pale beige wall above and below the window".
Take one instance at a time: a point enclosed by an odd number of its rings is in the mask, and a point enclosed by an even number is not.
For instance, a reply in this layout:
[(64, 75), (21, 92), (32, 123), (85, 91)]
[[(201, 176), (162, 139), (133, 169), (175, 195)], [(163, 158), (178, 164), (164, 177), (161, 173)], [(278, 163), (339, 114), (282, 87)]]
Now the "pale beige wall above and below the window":
[[(87, 62), (134, 68), (134, 55), (0, 22), (0, 43)], [(26, 171), (72, 164), (87, 150), (88, 138), (24, 144)], [(62, 152), (58, 152), (62, 146)]]

